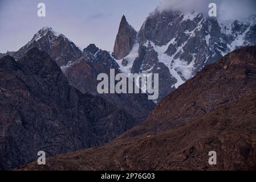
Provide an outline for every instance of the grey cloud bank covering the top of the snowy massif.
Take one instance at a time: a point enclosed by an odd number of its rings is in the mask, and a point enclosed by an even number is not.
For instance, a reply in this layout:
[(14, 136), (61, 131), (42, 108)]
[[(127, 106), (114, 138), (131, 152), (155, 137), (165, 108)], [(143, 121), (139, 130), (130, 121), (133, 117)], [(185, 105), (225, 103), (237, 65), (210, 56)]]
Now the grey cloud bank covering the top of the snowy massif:
[(182, 13), (197, 11), (208, 15), (209, 3), (216, 3), (219, 20), (245, 19), (256, 12), (255, 0), (160, 0), (160, 11), (178, 10)]

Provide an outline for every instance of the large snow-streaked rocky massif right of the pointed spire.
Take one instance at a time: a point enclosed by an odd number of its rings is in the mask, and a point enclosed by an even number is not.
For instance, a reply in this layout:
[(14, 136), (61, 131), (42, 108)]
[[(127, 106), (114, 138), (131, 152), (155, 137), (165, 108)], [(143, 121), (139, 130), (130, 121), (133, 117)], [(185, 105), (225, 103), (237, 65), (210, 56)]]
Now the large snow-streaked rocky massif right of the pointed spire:
[[(124, 27), (123, 21), (120, 27)], [(120, 35), (127, 37), (130, 32), (125, 34), (124, 28), (119, 28), (116, 43), (124, 39)], [(134, 42), (127, 55), (116, 56), (121, 72), (159, 73), (161, 100), (205, 65), (239, 47), (256, 45), (256, 15), (243, 22), (219, 23), (196, 12), (182, 14), (156, 9), (145, 20)], [(115, 49), (113, 54), (121, 55), (120, 52)]]

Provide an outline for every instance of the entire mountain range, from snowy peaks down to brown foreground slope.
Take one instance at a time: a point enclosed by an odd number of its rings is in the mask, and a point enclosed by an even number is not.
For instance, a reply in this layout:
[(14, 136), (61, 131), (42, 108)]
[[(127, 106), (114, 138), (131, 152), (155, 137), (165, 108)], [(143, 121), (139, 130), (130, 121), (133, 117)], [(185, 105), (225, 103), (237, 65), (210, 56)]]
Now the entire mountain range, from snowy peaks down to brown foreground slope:
[[(139, 32), (123, 16), (113, 52), (42, 28), (0, 54), (0, 169), (40, 150), (46, 166), (19, 169), (255, 169), (255, 37), (255, 15), (220, 23), (159, 9)], [(110, 69), (159, 73), (160, 97), (97, 93)]]

